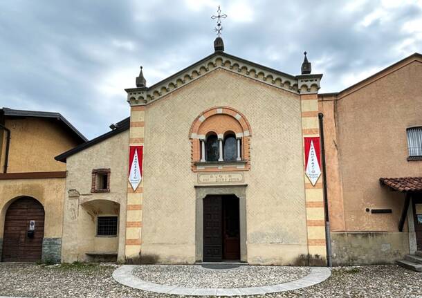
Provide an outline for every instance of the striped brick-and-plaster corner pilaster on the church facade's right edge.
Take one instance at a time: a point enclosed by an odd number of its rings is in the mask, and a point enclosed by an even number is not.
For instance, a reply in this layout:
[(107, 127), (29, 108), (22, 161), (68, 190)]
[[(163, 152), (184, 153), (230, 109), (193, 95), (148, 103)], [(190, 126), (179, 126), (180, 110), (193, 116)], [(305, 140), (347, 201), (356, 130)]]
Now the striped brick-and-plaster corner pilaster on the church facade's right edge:
[[(302, 94), (300, 95), (300, 100), (302, 106), (303, 142), (303, 138), (306, 137), (320, 137), (320, 127), (318, 121), (318, 93), (315, 92)], [(305, 169), (305, 167), (306, 165), (304, 165), (303, 169)], [(309, 178), (304, 173), (304, 181), (309, 265), (325, 266), (327, 264), (327, 243), (325, 237), (322, 175), (320, 178), (318, 178), (318, 181), (315, 183), (315, 185), (312, 185), (312, 183), (309, 181)]]

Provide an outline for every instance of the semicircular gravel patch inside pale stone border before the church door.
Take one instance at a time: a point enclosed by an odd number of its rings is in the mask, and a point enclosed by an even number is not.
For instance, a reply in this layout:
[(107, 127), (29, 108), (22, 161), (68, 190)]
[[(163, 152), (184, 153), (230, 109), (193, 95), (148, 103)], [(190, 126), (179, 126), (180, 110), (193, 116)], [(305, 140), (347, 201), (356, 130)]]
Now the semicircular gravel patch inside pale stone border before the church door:
[(294, 281), (309, 272), (310, 268), (286, 266), (240, 266), (230, 270), (210, 270), (199, 265), (142, 265), (132, 273), (144, 281), (169, 286), (246, 288)]

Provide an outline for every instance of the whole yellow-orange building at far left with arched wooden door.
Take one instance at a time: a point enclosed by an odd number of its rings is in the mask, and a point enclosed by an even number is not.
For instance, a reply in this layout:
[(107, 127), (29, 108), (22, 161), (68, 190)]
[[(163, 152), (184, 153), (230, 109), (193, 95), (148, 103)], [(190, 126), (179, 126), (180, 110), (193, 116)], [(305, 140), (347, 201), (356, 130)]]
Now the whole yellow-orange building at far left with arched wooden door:
[(66, 167), (86, 138), (59, 113), (0, 109), (1, 261), (60, 261)]

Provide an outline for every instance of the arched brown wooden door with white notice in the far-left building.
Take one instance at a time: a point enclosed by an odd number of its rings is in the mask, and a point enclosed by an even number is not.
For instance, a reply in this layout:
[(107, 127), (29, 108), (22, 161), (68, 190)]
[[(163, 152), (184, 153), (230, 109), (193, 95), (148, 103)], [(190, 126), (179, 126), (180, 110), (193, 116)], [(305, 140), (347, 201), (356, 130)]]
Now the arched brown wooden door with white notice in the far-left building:
[[(35, 221), (33, 236), (28, 236), (30, 221)], [(44, 208), (35, 198), (23, 197), (6, 212), (2, 261), (32, 262), (41, 259), (44, 237)]]

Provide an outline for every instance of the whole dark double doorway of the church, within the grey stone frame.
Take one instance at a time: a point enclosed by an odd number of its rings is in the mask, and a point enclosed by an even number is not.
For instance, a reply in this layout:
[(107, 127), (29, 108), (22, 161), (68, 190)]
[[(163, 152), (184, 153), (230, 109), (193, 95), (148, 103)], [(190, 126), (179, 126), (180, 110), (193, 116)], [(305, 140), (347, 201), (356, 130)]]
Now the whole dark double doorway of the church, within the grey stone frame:
[(203, 199), (203, 261), (239, 259), (239, 198), (206, 196)]

